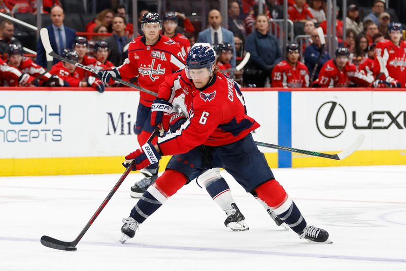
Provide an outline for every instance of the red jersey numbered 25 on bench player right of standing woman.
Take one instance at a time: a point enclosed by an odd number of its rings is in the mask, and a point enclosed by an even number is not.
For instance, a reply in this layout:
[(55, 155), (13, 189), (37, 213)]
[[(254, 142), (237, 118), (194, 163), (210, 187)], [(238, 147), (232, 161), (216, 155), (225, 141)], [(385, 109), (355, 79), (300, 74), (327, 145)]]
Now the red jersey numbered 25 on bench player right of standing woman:
[(286, 60), (281, 61), (272, 71), (272, 87), (308, 87), (309, 70), (301, 62), (292, 67)]

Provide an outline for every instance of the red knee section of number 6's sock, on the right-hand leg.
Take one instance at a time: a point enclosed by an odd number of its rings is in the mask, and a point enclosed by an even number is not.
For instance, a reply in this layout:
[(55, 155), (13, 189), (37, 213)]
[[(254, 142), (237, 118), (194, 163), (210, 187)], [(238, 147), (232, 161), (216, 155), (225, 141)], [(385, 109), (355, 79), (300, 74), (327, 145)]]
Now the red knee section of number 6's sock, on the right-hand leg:
[(263, 183), (255, 189), (255, 192), (260, 199), (273, 208), (280, 206), (287, 198), (285, 189), (275, 179)]

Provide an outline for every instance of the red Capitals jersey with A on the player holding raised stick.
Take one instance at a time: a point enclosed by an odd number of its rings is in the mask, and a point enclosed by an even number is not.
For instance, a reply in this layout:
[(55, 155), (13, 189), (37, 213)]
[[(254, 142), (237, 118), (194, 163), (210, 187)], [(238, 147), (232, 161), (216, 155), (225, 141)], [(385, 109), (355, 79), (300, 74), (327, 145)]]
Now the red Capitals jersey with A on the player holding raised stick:
[[(185, 67), (185, 59), (179, 45), (166, 36), (160, 36), (154, 45), (146, 45), (145, 37), (130, 42), (128, 58), (118, 70), (125, 81), (138, 76), (141, 87), (158, 93), (159, 85), (165, 76)], [(153, 95), (140, 92), (140, 102), (150, 107)]]

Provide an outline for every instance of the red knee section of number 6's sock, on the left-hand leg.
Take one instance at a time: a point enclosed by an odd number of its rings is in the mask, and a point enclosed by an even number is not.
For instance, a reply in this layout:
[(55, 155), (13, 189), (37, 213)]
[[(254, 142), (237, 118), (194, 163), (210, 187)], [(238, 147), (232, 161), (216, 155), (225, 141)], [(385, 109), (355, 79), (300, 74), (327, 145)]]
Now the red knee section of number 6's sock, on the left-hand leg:
[(176, 170), (166, 169), (165, 172), (156, 179), (154, 187), (168, 198), (181, 189), (181, 187), (186, 184), (186, 181), (187, 177), (185, 174)]

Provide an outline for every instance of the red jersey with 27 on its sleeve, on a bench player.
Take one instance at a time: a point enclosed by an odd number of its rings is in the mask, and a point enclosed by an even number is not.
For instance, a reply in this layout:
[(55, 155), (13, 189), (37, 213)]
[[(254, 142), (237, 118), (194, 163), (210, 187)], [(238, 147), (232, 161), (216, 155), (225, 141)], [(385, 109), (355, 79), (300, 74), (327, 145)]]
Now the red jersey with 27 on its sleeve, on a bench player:
[(335, 66), (334, 59), (327, 61), (320, 70), (319, 78), (314, 82), (320, 87), (348, 87), (350, 82), (358, 86), (368, 87), (373, 79), (357, 71), (354, 64), (347, 62), (343, 70)]

